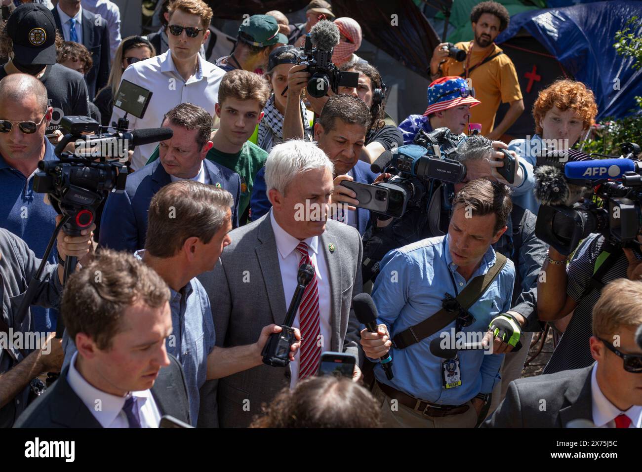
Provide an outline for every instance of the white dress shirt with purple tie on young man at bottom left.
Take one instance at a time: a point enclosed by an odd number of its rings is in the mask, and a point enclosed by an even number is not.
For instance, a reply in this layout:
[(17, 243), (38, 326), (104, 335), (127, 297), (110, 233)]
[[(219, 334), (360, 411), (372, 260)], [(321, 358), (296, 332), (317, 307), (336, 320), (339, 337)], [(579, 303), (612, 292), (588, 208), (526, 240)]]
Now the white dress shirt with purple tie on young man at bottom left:
[(94, 418), (96, 418), (103, 428), (129, 427), (123, 406), (125, 406), (125, 400), (130, 396), (136, 398), (141, 426), (143, 428), (159, 427), (160, 412), (152, 396), (152, 390), (130, 392), (130, 394), (125, 397), (119, 397), (98, 390), (78, 372), (76, 369), (76, 357), (78, 357), (77, 352), (74, 353), (71, 362), (69, 362), (67, 382), (69, 382), (69, 387), (78, 395), (82, 403), (87, 406), (91, 414), (94, 415)]

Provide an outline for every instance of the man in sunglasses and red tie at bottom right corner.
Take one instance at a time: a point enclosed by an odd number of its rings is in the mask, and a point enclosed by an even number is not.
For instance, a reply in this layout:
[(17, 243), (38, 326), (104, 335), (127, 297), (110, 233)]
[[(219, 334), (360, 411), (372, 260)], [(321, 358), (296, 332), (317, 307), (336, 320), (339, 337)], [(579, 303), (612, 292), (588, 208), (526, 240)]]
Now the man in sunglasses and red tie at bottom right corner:
[(609, 283), (593, 308), (589, 347), (596, 362), (512, 381), (482, 427), (642, 428), (642, 346), (635, 340), (641, 297), (640, 281)]

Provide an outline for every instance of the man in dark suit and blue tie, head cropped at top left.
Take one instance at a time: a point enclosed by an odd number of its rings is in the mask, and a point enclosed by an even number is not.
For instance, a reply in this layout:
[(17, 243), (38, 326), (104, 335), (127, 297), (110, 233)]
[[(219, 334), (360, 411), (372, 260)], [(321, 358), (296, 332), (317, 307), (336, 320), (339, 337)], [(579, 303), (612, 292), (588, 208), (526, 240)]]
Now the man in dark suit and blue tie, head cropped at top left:
[(96, 92), (107, 85), (109, 67), (111, 66), (109, 49), (109, 31), (107, 21), (96, 18), (96, 15), (83, 10), (81, 0), (59, 0), (56, 8), (51, 10), (56, 28), (65, 41), (84, 44), (91, 53), (94, 66), (85, 75), (89, 98), (93, 100)]

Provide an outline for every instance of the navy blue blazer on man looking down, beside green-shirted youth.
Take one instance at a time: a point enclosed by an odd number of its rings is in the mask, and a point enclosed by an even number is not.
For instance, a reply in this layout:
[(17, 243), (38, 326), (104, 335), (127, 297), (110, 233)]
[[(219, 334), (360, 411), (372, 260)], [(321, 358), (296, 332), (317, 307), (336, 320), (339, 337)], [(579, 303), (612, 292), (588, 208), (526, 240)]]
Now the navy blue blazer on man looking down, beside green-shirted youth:
[[(204, 170), (209, 183), (221, 184), (234, 198), (232, 225), (238, 226), (238, 205), (241, 195), (241, 179), (238, 173), (205, 159)], [(110, 193), (105, 203), (100, 222), (98, 242), (103, 247), (135, 252), (145, 246), (147, 235), (147, 211), (152, 197), (162, 187), (171, 183), (169, 174), (160, 164), (160, 159), (127, 176), (123, 193)]]

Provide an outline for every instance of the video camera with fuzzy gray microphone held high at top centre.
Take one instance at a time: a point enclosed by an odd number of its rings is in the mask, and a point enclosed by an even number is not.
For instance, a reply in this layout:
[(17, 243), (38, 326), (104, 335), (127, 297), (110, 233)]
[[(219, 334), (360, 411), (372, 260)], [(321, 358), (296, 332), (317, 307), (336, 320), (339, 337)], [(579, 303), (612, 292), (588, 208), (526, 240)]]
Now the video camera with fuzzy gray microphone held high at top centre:
[(306, 35), (303, 56), (297, 64), (308, 64), (305, 71), (311, 74), (307, 87), (310, 96), (321, 98), (329, 90), (336, 94), (339, 87), (356, 88), (359, 84), (359, 73), (340, 71), (332, 63), (333, 49), (339, 38), (339, 28), (327, 20), (317, 22)]

